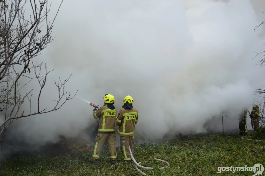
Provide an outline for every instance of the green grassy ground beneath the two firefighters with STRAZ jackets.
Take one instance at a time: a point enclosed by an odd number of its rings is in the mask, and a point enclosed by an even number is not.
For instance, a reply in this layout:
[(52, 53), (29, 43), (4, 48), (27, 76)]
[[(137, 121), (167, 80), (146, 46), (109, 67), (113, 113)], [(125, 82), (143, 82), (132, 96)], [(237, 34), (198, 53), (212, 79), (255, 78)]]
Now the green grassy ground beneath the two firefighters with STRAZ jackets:
[[(253, 175), (253, 171), (223, 171), (219, 166), (254, 166), (265, 163), (265, 142), (248, 141), (240, 137), (204, 134), (161, 144), (134, 146), (134, 157), (143, 166), (162, 167), (166, 160), (171, 167), (164, 170), (141, 169), (148, 175)], [(135, 164), (125, 163), (117, 147), (117, 164), (109, 164), (109, 152), (104, 146), (99, 165), (90, 165), (92, 152), (65, 154), (57, 157), (31, 154), (1, 162), (0, 175), (141, 175)], [(264, 165), (265, 166), (265, 165)], [(264, 173), (263, 173), (264, 174)]]

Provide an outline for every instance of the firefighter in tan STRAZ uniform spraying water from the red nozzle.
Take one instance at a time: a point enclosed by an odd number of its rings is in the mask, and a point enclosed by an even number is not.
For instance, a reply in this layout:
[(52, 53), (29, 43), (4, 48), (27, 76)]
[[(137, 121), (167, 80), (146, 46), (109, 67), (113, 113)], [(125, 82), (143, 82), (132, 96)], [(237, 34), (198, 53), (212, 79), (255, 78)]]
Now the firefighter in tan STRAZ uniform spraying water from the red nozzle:
[(98, 110), (93, 110), (95, 119), (99, 118), (98, 134), (94, 142), (94, 149), (92, 154), (92, 161), (90, 164), (98, 164), (99, 155), (101, 153), (104, 142), (107, 139), (110, 153), (110, 163), (115, 164), (117, 158), (116, 145), (115, 145), (115, 121), (116, 121), (116, 108), (114, 107), (115, 98), (111, 94), (105, 94), (104, 106)]

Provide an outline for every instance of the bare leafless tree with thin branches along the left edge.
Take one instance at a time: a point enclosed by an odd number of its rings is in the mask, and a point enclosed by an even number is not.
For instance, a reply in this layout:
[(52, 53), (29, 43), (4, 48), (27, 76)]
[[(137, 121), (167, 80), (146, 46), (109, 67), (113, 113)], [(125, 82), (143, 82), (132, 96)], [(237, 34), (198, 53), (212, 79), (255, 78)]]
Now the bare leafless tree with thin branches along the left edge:
[[(5, 112), (4, 122), (0, 123), (0, 135), (15, 120), (36, 114), (43, 114), (60, 109), (71, 96), (65, 90), (68, 79), (55, 81), (58, 89), (58, 99), (52, 109), (40, 109), (40, 96), (46, 84), (47, 75), (52, 71), (42, 73), (42, 63), (37, 64), (35, 57), (53, 41), (51, 29), (59, 9), (50, 23), (48, 13), (51, 4), (48, 0), (0, 0), (0, 111)], [(25, 7), (28, 7), (26, 10)], [(25, 13), (26, 12), (26, 13)], [(30, 15), (28, 15), (30, 13)], [(37, 80), (40, 86), (37, 110), (32, 112), (33, 90), (20, 94), (21, 89), (28, 84), (21, 83), (21, 78)], [(29, 113), (21, 108), (28, 101)]]

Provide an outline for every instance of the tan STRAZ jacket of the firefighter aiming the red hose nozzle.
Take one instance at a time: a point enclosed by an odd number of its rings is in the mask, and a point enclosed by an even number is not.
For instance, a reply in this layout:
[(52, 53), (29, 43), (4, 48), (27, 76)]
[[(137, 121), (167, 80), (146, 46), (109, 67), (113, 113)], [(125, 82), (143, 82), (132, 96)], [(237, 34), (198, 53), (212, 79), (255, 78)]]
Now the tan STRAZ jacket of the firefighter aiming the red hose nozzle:
[(95, 119), (99, 118), (99, 133), (115, 132), (116, 108), (109, 109), (107, 105), (101, 106), (93, 112)]

